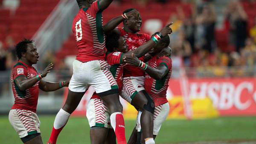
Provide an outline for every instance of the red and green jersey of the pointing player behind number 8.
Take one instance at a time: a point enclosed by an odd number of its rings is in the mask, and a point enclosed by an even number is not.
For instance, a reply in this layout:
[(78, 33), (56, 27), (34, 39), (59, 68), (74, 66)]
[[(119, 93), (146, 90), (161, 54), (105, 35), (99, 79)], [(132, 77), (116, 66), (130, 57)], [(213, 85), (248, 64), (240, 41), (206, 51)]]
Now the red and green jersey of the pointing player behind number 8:
[[(122, 64), (122, 52), (111, 52), (107, 55), (107, 62), (110, 65), (110, 72), (116, 80), (118, 91), (121, 92), (123, 85), (123, 64)], [(93, 98), (100, 98), (95, 92)]]

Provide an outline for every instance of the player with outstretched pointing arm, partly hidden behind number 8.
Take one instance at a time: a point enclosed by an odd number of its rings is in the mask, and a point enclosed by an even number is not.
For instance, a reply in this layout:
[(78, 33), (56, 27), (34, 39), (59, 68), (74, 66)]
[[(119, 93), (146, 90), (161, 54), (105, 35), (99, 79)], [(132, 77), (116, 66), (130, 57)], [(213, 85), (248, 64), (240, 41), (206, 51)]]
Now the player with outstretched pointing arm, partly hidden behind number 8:
[[(172, 32), (169, 25), (164, 27), (160, 33), (163, 36), (166, 36)], [(133, 51), (127, 50), (128, 46), (125, 43), (124, 37), (121, 37), (118, 33), (112, 32), (107, 35), (106, 38), (106, 48), (108, 49), (107, 61), (110, 64), (111, 73), (115, 78), (119, 92), (122, 90), (122, 74), (123, 74), (123, 63), (126, 56), (130, 56), (131, 54), (136, 55), (137, 57), (141, 57), (145, 55), (151, 48), (155, 45), (155, 41), (152, 38), (144, 45), (140, 46), (138, 49)], [(91, 144), (102, 144), (106, 141), (105, 138), (108, 137), (108, 143), (113, 144), (115, 142), (114, 135), (108, 135), (108, 132), (113, 133), (109, 123), (109, 113), (108, 108), (104, 104), (104, 102), (100, 99), (100, 97), (94, 93), (90, 98), (90, 101), (87, 104), (87, 119), (89, 121), (90, 129), (90, 139)], [(112, 140), (110, 139), (112, 137)]]

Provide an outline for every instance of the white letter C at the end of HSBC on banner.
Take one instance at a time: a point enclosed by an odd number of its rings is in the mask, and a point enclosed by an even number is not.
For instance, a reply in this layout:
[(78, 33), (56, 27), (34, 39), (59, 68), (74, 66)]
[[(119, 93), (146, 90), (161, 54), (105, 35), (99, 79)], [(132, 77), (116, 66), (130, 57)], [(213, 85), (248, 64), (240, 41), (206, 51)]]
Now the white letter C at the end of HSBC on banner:
[(244, 104), (241, 103), (240, 96), (243, 89), (247, 89), (249, 93), (253, 92), (253, 84), (250, 82), (242, 82), (239, 86), (236, 87), (236, 91), (234, 93), (234, 105), (237, 109), (244, 110), (250, 107), (251, 101), (248, 100)]

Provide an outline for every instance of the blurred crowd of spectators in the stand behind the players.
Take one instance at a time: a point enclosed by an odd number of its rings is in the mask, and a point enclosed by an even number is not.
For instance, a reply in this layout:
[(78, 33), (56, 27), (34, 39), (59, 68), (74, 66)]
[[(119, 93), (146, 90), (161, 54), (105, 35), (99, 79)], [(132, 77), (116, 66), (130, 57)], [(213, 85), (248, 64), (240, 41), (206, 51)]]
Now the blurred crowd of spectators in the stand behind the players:
[[(125, 0), (117, 0), (122, 3)], [(138, 2), (140, 1), (140, 2)], [(156, 0), (163, 3), (166, 0)], [(186, 0), (183, 0), (186, 1)], [(200, 0), (195, 0), (200, 1)], [(254, 4), (253, 0), (230, 1), (223, 9), (223, 29), (216, 29), (217, 15), (213, 0), (194, 2), (192, 13), (185, 16), (177, 6), (177, 14), (170, 15), (174, 33), (171, 35), (173, 68), (184, 65), (189, 76), (250, 76), (256, 71), (256, 17), (248, 24), (248, 15), (243, 3)], [(150, 0), (134, 0), (134, 3), (150, 3)], [(13, 8), (10, 8), (13, 9)], [(255, 15), (255, 14), (254, 14)], [(251, 18), (251, 17), (250, 17)], [(5, 47), (0, 42), (0, 70), (9, 70), (15, 62), (14, 42), (6, 37)], [(54, 60), (54, 54), (47, 52), (44, 58)], [(61, 61), (58, 68), (66, 69)], [(175, 75), (174, 75), (175, 76)]]

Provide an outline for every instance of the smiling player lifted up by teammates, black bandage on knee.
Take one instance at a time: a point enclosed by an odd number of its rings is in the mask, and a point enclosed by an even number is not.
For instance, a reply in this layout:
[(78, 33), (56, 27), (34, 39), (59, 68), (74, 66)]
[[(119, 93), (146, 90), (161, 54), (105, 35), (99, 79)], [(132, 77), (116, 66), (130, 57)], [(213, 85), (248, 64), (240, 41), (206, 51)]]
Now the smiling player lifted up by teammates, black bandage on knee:
[[(140, 32), (140, 27), (142, 25), (142, 17), (136, 9), (127, 9), (123, 12), (123, 14), (131, 11), (136, 11), (138, 14), (123, 19), (123, 28), (118, 27), (114, 29), (115, 32), (118, 32), (122, 37), (125, 38), (125, 41), (128, 44), (128, 51), (137, 49), (151, 38), (147, 34), (138, 33)], [(121, 22), (121, 18), (119, 18), (119, 22)], [(169, 26), (171, 24), (169, 24)], [(162, 37), (161, 33), (159, 33), (158, 36)], [(170, 52), (169, 48), (167, 49)], [(143, 61), (144, 58), (139, 57), (139, 59)], [(121, 96), (131, 103), (135, 108), (143, 110), (141, 118), (142, 129), (144, 132), (143, 138), (145, 138), (146, 144), (154, 144), (152, 135), (154, 103), (152, 98), (146, 94), (144, 89), (144, 72), (142, 69), (135, 66), (125, 65), (123, 77)]]

